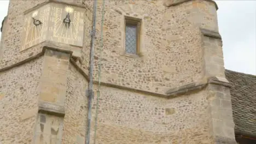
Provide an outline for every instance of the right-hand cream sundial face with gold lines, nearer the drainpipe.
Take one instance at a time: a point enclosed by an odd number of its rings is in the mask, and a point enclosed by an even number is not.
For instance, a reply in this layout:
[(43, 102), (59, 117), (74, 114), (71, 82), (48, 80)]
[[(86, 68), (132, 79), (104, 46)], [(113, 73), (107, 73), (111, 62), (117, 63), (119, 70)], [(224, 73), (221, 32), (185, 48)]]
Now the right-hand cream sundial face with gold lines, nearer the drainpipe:
[(68, 5), (51, 5), (49, 22), (50, 40), (83, 46), (84, 10)]

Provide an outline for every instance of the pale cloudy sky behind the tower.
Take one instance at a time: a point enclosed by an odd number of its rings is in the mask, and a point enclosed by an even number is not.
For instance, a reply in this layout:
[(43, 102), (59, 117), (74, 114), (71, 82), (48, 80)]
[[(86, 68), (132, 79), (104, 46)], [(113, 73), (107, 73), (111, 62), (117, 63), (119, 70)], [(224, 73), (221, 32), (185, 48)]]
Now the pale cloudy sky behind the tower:
[[(218, 0), (225, 68), (256, 75), (256, 1)], [(0, 21), (9, 1), (0, 1)], [(1, 24), (0, 24), (1, 25)]]

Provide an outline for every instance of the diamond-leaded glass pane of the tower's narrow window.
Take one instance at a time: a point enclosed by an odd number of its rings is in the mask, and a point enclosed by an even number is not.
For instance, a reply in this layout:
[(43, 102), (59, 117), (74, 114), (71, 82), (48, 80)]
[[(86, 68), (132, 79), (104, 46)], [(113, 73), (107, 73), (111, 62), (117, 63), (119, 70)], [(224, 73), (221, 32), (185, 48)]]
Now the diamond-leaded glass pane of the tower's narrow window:
[(125, 30), (125, 52), (136, 55), (137, 53), (137, 26), (126, 25)]

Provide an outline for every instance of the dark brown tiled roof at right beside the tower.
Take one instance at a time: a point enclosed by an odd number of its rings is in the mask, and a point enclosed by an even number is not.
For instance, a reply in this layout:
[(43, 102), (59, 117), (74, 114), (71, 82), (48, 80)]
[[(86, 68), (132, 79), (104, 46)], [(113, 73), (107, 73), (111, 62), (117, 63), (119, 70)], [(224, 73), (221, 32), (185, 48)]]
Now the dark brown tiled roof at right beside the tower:
[(256, 76), (226, 70), (230, 89), (235, 133), (256, 137)]

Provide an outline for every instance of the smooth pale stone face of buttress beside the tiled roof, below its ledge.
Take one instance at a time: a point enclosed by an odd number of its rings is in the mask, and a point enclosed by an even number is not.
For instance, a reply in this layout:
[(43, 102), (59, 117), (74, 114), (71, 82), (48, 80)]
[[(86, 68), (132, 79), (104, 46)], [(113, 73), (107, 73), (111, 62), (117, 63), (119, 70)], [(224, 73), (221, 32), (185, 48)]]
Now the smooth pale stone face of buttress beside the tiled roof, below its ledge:
[(236, 143), (229, 88), (222, 85), (209, 84), (207, 89), (214, 142)]

